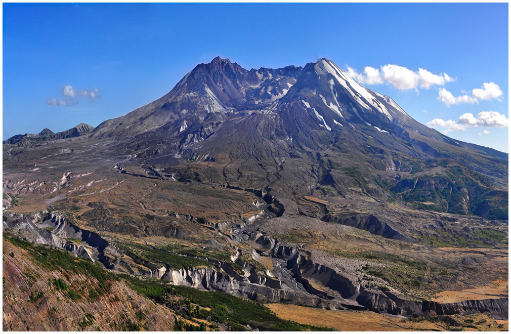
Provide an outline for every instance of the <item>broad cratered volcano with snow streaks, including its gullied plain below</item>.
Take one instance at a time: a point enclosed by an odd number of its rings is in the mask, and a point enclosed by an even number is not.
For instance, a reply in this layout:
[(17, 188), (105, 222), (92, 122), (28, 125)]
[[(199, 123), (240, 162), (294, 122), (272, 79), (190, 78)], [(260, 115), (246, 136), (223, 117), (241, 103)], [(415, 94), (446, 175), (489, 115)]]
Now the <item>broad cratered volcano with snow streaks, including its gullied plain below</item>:
[(126, 116), (3, 144), (4, 231), (111, 270), (271, 302), (507, 312), (507, 154), (330, 60), (217, 57)]

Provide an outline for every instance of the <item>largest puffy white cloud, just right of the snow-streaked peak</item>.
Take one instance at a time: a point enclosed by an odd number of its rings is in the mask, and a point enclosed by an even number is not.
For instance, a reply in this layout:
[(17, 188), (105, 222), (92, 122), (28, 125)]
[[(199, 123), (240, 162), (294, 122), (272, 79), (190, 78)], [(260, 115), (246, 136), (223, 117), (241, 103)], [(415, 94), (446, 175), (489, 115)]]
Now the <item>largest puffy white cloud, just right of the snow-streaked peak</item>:
[(428, 90), (433, 85), (443, 86), (446, 82), (454, 81), (452, 77), (445, 73), (436, 75), (424, 69), (419, 69), (418, 72), (414, 72), (403, 66), (394, 64), (382, 66), (381, 71), (367, 66), (363, 74), (347, 66), (346, 75), (360, 83), (388, 83), (399, 90), (416, 90), (417, 87)]

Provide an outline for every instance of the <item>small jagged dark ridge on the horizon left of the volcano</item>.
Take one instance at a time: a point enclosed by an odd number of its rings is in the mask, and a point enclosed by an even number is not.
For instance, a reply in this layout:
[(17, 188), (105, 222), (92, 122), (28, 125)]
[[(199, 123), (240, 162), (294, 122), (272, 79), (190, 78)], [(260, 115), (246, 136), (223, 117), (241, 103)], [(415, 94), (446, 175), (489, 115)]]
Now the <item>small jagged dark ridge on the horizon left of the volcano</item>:
[(10, 144), (15, 146), (28, 146), (40, 144), (41, 142), (47, 142), (50, 140), (80, 137), (83, 135), (87, 135), (87, 133), (90, 133), (90, 131), (92, 131), (93, 129), (94, 127), (85, 123), (78, 124), (77, 126), (72, 127), (71, 129), (57, 133), (54, 133), (49, 128), (44, 128), (39, 133), (35, 134), (25, 133), (25, 135), (13, 136), (7, 140), (4, 140), (3, 144)]

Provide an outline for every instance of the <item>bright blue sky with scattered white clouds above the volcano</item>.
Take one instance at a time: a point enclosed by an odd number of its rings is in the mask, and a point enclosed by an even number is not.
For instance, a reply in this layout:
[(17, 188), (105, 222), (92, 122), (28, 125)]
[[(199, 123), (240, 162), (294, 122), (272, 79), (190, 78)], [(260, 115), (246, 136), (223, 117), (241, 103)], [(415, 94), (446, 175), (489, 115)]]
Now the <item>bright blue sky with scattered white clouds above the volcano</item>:
[(417, 121), (508, 152), (508, 4), (3, 4), (3, 14), (3, 139), (97, 126), (218, 55), (246, 69), (326, 57)]

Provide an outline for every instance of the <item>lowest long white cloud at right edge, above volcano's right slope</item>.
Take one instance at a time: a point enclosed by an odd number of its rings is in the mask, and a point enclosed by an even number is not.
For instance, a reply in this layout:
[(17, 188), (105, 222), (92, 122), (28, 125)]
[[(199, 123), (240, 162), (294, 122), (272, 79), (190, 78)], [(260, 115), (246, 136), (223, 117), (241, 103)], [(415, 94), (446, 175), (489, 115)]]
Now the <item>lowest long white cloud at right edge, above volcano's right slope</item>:
[[(458, 118), (458, 121), (448, 120), (444, 121), (443, 119), (435, 118), (434, 120), (427, 123), (430, 127), (443, 127), (444, 130), (442, 133), (447, 133), (450, 131), (464, 131), (467, 127), (509, 127), (509, 120), (504, 114), (499, 114), (497, 112), (480, 112), (477, 114), (477, 118), (474, 117), (471, 113), (466, 113), (461, 115)], [(491, 133), (490, 131), (484, 130), (483, 133), (488, 135)]]

